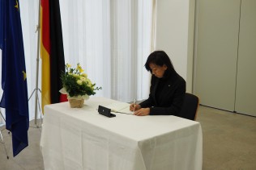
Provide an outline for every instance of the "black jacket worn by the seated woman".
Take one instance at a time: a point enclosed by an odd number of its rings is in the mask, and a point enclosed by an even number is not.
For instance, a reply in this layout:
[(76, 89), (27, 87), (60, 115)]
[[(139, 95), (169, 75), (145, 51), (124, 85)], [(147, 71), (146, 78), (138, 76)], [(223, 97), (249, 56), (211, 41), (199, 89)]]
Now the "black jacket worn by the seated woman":
[(151, 76), (149, 97), (141, 102), (140, 106), (150, 107), (151, 115), (178, 115), (185, 93), (186, 81), (177, 73), (170, 73), (167, 69), (163, 78)]

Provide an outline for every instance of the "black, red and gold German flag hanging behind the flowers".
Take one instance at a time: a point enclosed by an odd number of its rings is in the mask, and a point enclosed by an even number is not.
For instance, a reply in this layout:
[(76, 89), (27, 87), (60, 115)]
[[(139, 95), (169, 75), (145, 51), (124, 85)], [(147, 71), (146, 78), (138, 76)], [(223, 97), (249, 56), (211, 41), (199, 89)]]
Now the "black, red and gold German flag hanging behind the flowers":
[[(42, 110), (48, 104), (66, 102), (61, 73), (65, 71), (62, 20), (58, 0), (41, 0)], [(62, 99), (61, 99), (62, 98)]]

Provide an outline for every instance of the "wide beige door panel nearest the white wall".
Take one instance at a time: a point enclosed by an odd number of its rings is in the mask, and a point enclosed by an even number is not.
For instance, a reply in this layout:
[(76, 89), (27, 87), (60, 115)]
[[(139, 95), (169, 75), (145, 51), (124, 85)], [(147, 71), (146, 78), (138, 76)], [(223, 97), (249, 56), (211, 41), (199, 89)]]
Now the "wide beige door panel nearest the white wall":
[(200, 103), (234, 110), (240, 0), (198, 0), (195, 87)]

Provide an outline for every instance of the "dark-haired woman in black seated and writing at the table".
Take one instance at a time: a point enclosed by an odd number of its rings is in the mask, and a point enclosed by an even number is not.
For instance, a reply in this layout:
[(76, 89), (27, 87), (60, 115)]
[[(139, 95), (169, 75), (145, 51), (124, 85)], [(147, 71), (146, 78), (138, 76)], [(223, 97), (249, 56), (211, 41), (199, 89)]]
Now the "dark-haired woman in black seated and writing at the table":
[(131, 104), (134, 115), (178, 115), (186, 93), (186, 81), (173, 68), (169, 56), (163, 51), (152, 52), (145, 64), (150, 71), (151, 87), (147, 100)]

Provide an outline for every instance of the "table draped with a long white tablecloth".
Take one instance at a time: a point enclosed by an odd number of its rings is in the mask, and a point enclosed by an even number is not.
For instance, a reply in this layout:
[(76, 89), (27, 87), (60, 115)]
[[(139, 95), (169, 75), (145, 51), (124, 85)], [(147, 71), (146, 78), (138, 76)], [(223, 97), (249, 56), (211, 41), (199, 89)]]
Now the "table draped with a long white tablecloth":
[(175, 116), (98, 114), (115, 101), (90, 97), (81, 109), (45, 106), (41, 151), (45, 169), (202, 169), (199, 122)]

